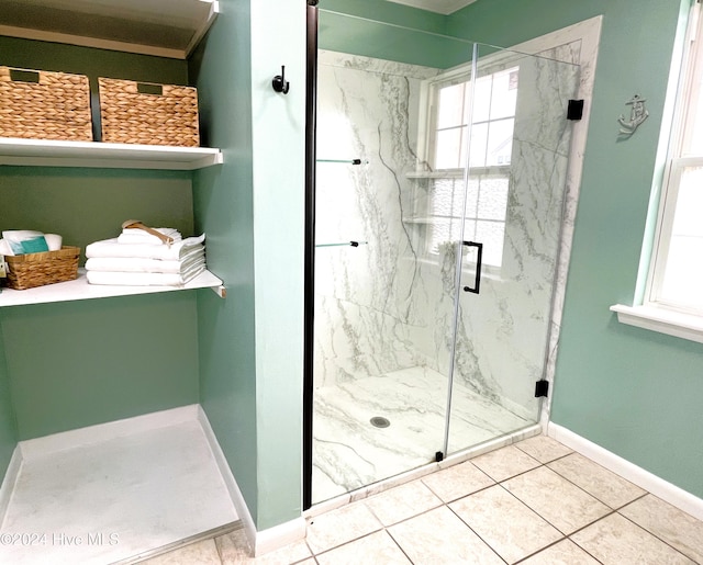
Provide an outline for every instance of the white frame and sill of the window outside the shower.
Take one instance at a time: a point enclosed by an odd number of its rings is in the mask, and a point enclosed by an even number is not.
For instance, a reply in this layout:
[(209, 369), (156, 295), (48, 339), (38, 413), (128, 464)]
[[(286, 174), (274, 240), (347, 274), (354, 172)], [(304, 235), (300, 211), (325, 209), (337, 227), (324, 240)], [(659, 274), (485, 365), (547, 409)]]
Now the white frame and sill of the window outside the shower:
[[(611, 310), (617, 313), (618, 320), (623, 324), (703, 343), (703, 308), (667, 301), (661, 295), (681, 174), (687, 167), (703, 167), (703, 155), (683, 155), (687, 133), (683, 125), (691, 101), (698, 94), (694, 79), (703, 76), (703, 22), (700, 2), (691, 8), (684, 45), (662, 190), (659, 199), (654, 202), (658, 206), (654, 245), (650, 255), (644, 257), (644, 260), (648, 260), (644, 293), (634, 306), (616, 304), (611, 306)], [(699, 108), (699, 112), (703, 112), (703, 108)]]

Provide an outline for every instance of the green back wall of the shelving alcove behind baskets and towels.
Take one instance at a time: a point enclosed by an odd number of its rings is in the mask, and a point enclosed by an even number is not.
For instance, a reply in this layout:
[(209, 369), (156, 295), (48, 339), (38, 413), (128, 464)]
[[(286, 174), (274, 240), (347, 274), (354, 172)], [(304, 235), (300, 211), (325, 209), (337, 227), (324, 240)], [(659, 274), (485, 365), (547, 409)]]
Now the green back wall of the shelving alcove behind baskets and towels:
[[(0, 37), (0, 53), (3, 65), (86, 75), (93, 94), (98, 76), (188, 79), (186, 61), (159, 57), (9, 37)], [(189, 172), (2, 167), (0, 202), (0, 229), (58, 233), (83, 250), (129, 218), (194, 233)], [(194, 292), (0, 314), (0, 387), (9, 381), (21, 440), (198, 402)]]

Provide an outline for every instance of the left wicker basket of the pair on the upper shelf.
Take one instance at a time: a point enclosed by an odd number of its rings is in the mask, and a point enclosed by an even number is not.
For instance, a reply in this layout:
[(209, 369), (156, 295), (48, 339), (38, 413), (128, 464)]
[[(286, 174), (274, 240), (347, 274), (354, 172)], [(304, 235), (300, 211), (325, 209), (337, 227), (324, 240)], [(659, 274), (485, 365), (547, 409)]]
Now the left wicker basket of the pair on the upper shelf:
[(0, 137), (91, 142), (88, 77), (0, 67)]

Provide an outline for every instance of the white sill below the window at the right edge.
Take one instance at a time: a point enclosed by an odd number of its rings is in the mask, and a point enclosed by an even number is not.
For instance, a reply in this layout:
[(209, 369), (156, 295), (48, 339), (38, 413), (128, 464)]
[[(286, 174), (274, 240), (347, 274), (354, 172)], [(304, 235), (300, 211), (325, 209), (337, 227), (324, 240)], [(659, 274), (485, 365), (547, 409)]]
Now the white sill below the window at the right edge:
[(657, 306), (625, 306), (623, 304), (611, 306), (611, 312), (617, 313), (617, 321), (621, 324), (703, 343), (703, 318), (701, 316)]

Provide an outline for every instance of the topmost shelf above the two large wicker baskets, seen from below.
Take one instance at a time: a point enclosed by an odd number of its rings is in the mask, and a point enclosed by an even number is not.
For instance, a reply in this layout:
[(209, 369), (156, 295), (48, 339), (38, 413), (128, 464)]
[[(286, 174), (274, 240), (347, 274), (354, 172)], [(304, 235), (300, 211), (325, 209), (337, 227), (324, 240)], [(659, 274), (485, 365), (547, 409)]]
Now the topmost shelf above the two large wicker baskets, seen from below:
[(215, 0), (22, 0), (0, 10), (0, 35), (187, 58), (214, 22)]

